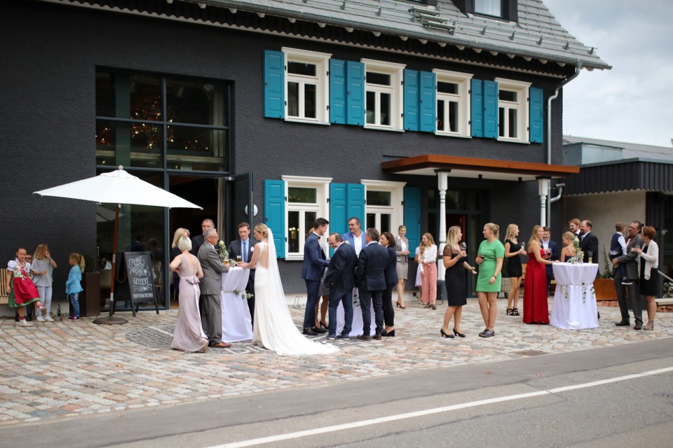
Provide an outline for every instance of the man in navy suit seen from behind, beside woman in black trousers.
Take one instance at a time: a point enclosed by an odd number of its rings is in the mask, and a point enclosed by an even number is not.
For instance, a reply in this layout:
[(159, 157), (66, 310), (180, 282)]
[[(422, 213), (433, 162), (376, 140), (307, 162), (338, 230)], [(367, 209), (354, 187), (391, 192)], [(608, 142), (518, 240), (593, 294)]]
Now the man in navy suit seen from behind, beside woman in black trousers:
[(355, 269), (355, 281), (358, 283), (360, 308), (362, 309), (362, 335), (359, 335), (358, 339), (363, 341), (372, 339), (370, 336), (372, 312), (369, 311), (369, 302), (373, 302), (376, 319), (374, 339), (380, 341), (381, 332), (383, 332), (383, 290), (386, 289), (385, 269), (388, 261), (388, 248), (379, 244), (379, 230), (374, 228), (367, 229), (365, 241), (367, 241), (367, 246), (360, 251), (358, 267)]

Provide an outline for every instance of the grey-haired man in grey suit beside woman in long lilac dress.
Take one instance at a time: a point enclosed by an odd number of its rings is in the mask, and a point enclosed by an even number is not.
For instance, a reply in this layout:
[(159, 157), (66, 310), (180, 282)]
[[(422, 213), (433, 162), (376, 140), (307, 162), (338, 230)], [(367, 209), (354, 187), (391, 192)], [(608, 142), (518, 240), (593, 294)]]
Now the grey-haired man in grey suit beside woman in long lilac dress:
[(199, 286), (199, 310), (201, 313), (201, 326), (203, 332), (208, 335), (208, 345), (224, 349), (231, 346), (222, 342), (222, 302), (220, 290), (222, 290), (222, 273), (229, 272), (229, 266), (224, 265), (219, 259), (215, 244), (217, 244), (217, 230), (206, 229), (203, 232), (204, 242), (198, 248), (198, 262), (203, 269), (203, 279)]

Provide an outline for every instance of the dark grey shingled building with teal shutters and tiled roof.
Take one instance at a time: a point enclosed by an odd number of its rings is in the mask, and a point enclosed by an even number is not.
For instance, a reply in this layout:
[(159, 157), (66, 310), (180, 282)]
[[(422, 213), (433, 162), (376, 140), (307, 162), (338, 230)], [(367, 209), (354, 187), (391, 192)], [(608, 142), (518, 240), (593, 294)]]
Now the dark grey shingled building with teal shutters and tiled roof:
[[(195, 235), (207, 217), (227, 242), (236, 237), (240, 221), (266, 221), (273, 228), (279, 224), (265, 196), (273, 185), (287, 189), (286, 203), (280, 204), (284, 222), (274, 229), (285, 245), (280, 266), (286, 293), (304, 292), (301, 248), (310, 221), (325, 216), (332, 230), (346, 231), (343, 216), (331, 209), (337, 186), (362, 187), (355, 190), (365, 199), (363, 227), (376, 225), (395, 235), (405, 223), (418, 233), (412, 244), (419, 232), (429, 231), (439, 240), (437, 233), (449, 225), (463, 226), (475, 246), (484, 223), (499, 223), (503, 231), (508, 223), (518, 223), (522, 236), (540, 223), (540, 183), (534, 179), (564, 176), (562, 91), (551, 109), (548, 99), (576, 72), (575, 52), (586, 55), (585, 66), (609, 68), (571, 36), (564, 50), (561, 37), (554, 36), (562, 28), (541, 2), (519, 1), (517, 20), (528, 27), (519, 35), (503, 34), (503, 27), (517, 25), (510, 10), (506, 17), (491, 17), (461, 11), (461, 2), (381, 1), (365, 10), (360, 2), (344, 2), (341, 12), (350, 13), (360, 27), (326, 19), (328, 9), (338, 9), (341, 2), (271, 3), (276, 9), (262, 12), (254, 2), (240, 1), (7, 1), (0, 17), (0, 148), (6, 181), (0, 248), (5, 258), (13, 258), (17, 246), (32, 252), (43, 242), (63, 267), (72, 251), (109, 257), (112, 223), (96, 214), (104, 204), (32, 192), (117, 165), (204, 208), (122, 207), (118, 250), (140, 241), (153, 253), (164, 306), (170, 302), (165, 278), (173, 231), (184, 227)], [(304, 12), (295, 6), (304, 6)], [(527, 19), (524, 14), (533, 7), (551, 18), (552, 31), (533, 29), (533, 14)], [(427, 15), (428, 10), (440, 13)], [(386, 15), (388, 27), (374, 28)], [(403, 15), (413, 28), (397, 25), (406, 23)], [(442, 15), (449, 18), (437, 22), (444, 28), (428, 22)], [(475, 35), (483, 27), (481, 43), (468, 45), (466, 23)], [(553, 50), (536, 43), (536, 32), (544, 45), (558, 39)], [(536, 45), (541, 47), (537, 54), (531, 50)], [(265, 111), (269, 54), (285, 57), (283, 118), (269, 118)], [(366, 73), (362, 123), (339, 122), (352, 118), (339, 118), (335, 111), (339, 62)], [(331, 79), (318, 73), (325, 69), (331, 69), (325, 73)], [(434, 91), (430, 122), (422, 117), (428, 106), (422, 104), (423, 80), (418, 98), (407, 88), (416, 73), (419, 79), (430, 73), (428, 79), (435, 82), (425, 90)], [(473, 98), (475, 85), (484, 85), (485, 95), (487, 85), (496, 86), (496, 134), (491, 137), (474, 134), (475, 105), (482, 104)], [(541, 94), (536, 100), (542, 106), (536, 117), (541, 141), (529, 137), (535, 93), (529, 89)], [(419, 130), (409, 130), (414, 111), (407, 106), (416, 101)], [(350, 102), (344, 99), (346, 109)], [(382, 168), (384, 162), (419, 155), (449, 158), (436, 167), (448, 173), (445, 191), (438, 190), (437, 175)], [(482, 175), (474, 168), (461, 174), (449, 167), (451, 158), (469, 158), (477, 167), (479, 160), (516, 166), (504, 174), (489, 169)], [(526, 164), (532, 165), (526, 169)], [(411, 214), (413, 195), (417, 211)], [(249, 205), (257, 215), (248, 214)], [(345, 207), (344, 216), (348, 202)], [(555, 235), (560, 235), (562, 214), (552, 207)], [(417, 222), (405, 222), (410, 216)], [(66, 276), (67, 269), (57, 269), (55, 291)]]

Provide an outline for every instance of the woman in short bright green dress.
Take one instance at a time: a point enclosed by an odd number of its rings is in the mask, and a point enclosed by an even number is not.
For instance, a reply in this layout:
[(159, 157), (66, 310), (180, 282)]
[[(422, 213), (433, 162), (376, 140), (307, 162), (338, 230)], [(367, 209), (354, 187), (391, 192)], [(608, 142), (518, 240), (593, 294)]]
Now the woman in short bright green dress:
[(477, 276), (477, 297), (479, 297), (479, 307), (482, 310), (482, 317), (486, 330), (479, 333), (480, 337), (495, 336), (496, 315), (498, 314), (498, 292), (500, 292), (501, 275), (503, 269), (503, 258), (505, 257), (505, 246), (498, 239), (500, 227), (494, 223), (484, 225), (484, 241), (479, 245), (477, 251), (477, 265), (479, 267), (479, 276)]

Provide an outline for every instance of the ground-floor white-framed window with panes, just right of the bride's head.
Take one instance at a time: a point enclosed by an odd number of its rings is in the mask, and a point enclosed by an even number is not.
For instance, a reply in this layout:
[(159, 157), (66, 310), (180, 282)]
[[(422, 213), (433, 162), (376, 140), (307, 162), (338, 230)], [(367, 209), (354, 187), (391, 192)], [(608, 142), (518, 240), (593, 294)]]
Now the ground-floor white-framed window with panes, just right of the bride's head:
[(327, 197), (332, 178), (283, 176), (287, 207), (285, 223), (287, 230), (286, 260), (304, 258), (304, 242), (315, 220), (325, 218), (329, 212)]

